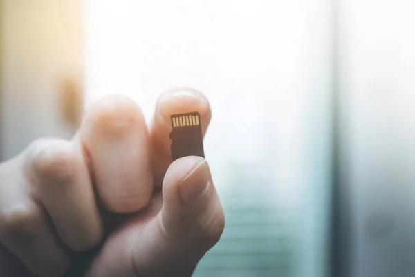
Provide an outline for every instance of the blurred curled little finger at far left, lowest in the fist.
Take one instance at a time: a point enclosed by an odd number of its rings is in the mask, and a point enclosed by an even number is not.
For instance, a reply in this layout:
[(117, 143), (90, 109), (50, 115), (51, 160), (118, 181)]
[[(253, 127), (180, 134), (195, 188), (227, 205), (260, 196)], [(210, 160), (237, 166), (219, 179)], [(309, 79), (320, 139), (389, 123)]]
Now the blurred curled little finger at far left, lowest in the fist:
[(0, 241), (37, 276), (62, 276), (69, 260), (33, 200), (23, 158), (0, 167)]

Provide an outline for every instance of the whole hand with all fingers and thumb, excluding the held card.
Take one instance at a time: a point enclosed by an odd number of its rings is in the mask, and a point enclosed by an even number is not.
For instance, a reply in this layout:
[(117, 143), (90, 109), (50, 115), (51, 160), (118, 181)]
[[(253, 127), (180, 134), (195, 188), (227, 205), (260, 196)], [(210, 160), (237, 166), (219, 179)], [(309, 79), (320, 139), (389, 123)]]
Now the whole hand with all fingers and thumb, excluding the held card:
[(0, 165), (0, 276), (191, 276), (225, 219), (209, 165), (172, 161), (169, 115), (210, 105), (163, 93), (147, 127), (129, 98), (84, 114), (71, 141), (40, 139)]

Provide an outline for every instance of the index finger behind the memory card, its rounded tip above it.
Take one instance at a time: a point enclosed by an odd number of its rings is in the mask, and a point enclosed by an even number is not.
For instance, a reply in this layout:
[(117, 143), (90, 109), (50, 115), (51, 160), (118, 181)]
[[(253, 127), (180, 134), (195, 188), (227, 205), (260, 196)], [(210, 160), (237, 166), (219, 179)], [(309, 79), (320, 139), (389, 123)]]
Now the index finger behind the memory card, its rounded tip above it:
[(157, 101), (150, 129), (154, 184), (161, 186), (167, 168), (172, 163), (169, 134), (172, 132), (170, 116), (198, 111), (201, 114), (203, 134), (210, 123), (208, 99), (194, 89), (173, 89), (163, 93)]

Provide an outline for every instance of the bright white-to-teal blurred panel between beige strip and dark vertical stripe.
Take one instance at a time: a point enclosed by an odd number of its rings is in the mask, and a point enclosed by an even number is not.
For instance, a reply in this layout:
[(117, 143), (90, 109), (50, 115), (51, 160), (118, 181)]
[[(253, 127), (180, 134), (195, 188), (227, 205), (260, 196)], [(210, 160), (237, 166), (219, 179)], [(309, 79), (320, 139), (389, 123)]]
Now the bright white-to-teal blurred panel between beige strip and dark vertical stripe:
[(149, 120), (166, 89), (210, 99), (205, 152), (228, 226), (196, 276), (324, 276), (330, 9), (328, 0), (86, 1), (87, 105), (122, 93)]

